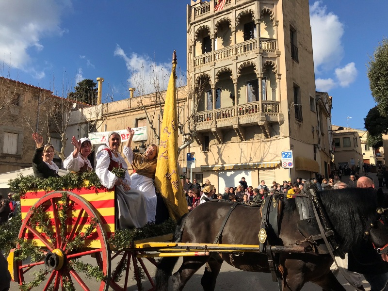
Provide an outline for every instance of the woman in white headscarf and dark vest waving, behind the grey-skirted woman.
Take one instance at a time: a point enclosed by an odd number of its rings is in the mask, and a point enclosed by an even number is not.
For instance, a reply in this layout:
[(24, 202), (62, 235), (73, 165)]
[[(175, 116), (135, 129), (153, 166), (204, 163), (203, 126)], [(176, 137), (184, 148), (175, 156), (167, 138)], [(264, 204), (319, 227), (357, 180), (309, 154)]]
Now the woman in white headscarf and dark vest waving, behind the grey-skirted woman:
[(64, 168), (70, 172), (90, 172), (93, 167), (88, 156), (92, 152), (92, 142), (87, 137), (81, 138), (79, 141), (73, 136), (71, 144), (74, 146), (74, 151), (64, 161)]

